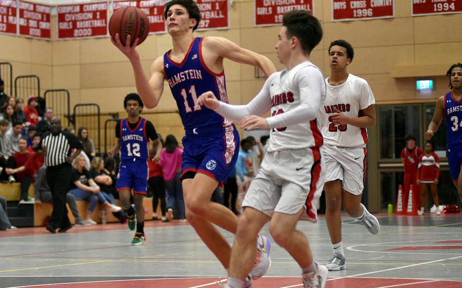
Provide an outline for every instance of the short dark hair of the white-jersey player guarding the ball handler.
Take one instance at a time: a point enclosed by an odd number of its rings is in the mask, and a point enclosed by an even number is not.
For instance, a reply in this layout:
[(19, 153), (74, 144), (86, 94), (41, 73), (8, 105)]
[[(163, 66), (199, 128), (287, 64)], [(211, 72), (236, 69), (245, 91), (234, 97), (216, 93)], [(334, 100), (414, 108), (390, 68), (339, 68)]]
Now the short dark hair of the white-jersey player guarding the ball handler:
[(295, 36), (306, 55), (309, 55), (322, 39), (321, 23), (310, 11), (289, 11), (282, 17), (282, 25), (287, 28), (287, 38)]

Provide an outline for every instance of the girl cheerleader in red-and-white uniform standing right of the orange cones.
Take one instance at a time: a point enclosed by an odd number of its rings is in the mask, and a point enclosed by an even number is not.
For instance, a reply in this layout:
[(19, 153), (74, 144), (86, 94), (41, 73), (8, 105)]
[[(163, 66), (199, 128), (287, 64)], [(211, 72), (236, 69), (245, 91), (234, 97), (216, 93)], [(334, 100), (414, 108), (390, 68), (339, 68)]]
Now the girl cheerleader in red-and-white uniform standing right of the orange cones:
[(434, 152), (433, 143), (427, 141), (424, 147), (424, 153), (419, 158), (417, 183), (420, 184), (420, 210), (419, 215), (422, 215), (425, 211), (425, 198), (430, 186), (432, 192), (433, 202), (435, 203), (436, 214), (440, 215), (441, 212), (438, 209), (440, 200), (438, 198), (438, 191), (436, 186), (438, 185), (438, 178), (440, 177), (440, 158)]

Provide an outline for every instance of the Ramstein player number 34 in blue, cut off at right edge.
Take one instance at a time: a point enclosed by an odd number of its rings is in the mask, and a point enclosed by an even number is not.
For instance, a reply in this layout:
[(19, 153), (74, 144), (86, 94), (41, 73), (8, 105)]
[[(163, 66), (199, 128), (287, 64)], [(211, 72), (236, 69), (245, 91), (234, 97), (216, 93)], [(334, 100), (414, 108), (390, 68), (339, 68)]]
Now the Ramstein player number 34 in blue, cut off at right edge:
[(449, 78), (449, 88), (451, 91), (438, 98), (435, 113), (428, 129), (425, 132), (427, 140), (432, 139), (438, 130), (441, 120), (446, 117), (448, 124), (447, 130), (447, 157), (452, 182), (454, 182), (462, 201), (462, 64), (452, 65), (446, 73)]

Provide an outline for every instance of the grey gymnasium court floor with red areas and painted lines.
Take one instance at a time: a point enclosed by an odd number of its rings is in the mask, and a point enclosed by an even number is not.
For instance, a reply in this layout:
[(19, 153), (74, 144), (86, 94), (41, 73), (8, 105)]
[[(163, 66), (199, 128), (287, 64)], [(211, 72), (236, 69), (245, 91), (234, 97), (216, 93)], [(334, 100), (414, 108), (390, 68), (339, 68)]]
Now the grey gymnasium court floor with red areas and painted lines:
[[(462, 287), (462, 215), (378, 215), (371, 235), (343, 220), (347, 269), (330, 272), (326, 287)], [(332, 256), (325, 219), (300, 222), (315, 259)], [(149, 221), (147, 242), (130, 246), (122, 224), (74, 227), (50, 234), (44, 227), (0, 232), (0, 287), (218, 287), (225, 270), (187, 223)], [(268, 235), (268, 226), (262, 233)], [(230, 243), (234, 235), (225, 232)], [(301, 287), (300, 268), (273, 242), (273, 264), (254, 288)]]

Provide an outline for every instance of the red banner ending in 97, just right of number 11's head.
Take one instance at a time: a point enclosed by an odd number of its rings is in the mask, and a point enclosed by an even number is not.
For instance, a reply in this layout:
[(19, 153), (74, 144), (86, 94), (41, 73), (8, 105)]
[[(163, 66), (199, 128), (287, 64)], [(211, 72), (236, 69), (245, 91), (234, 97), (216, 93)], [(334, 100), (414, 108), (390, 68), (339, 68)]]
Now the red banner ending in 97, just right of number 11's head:
[(201, 22), (197, 30), (229, 28), (228, 0), (196, 0), (201, 11)]

